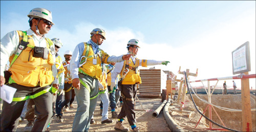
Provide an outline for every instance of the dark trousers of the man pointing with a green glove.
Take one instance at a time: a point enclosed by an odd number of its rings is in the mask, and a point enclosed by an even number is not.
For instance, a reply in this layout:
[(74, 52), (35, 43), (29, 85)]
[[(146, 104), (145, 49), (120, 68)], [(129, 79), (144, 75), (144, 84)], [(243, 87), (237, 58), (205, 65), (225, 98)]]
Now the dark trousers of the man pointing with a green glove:
[(124, 119), (127, 117), (127, 120), (130, 125), (136, 124), (135, 119), (135, 111), (134, 111), (134, 101), (137, 94), (137, 86), (136, 84), (121, 84), (121, 96), (123, 98), (123, 106), (121, 108), (121, 112), (119, 113), (117, 119)]

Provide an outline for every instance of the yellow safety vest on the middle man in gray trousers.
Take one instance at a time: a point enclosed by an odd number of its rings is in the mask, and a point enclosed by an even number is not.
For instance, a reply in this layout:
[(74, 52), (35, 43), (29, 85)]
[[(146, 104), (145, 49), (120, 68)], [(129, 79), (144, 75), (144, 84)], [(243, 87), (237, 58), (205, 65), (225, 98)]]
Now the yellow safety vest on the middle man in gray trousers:
[[(84, 42), (84, 51), (82, 53), (82, 56), (86, 56), (87, 46), (89, 46), (89, 52), (87, 56), (87, 61), (81, 67), (79, 68), (79, 72), (89, 75), (92, 78), (100, 79), (102, 78), (102, 67), (101, 63), (107, 63), (106, 60), (108, 60), (109, 55), (106, 54), (103, 50), (99, 49), (98, 54), (94, 54), (93, 48), (90, 45), (87, 45), (86, 42)], [(83, 58), (86, 59), (86, 58)], [(83, 60), (82, 59), (82, 60)], [(96, 64), (93, 64), (93, 59), (96, 59)]]

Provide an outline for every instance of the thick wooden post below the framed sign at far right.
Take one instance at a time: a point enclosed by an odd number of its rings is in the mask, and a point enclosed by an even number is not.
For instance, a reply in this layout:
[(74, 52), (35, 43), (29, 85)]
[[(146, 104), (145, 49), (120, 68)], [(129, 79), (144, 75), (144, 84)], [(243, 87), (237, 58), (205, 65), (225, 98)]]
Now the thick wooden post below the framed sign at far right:
[[(248, 72), (244, 73), (248, 75)], [(241, 79), (243, 131), (252, 131), (249, 79)]]

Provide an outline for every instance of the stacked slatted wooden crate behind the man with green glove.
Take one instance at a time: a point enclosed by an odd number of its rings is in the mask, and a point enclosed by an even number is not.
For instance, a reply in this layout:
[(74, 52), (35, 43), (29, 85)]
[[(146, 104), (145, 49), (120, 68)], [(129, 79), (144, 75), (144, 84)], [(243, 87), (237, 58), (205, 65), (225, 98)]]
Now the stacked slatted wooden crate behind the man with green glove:
[(139, 85), (141, 96), (161, 96), (166, 89), (166, 74), (161, 69), (141, 69), (142, 83)]

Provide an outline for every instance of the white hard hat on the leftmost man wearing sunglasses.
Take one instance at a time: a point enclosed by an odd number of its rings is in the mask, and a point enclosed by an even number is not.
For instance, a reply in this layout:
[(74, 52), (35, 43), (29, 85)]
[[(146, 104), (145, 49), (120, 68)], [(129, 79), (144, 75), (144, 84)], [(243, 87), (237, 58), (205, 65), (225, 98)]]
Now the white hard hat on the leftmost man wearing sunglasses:
[(54, 25), (54, 23), (52, 22), (52, 12), (45, 8), (32, 9), (29, 12), (28, 17), (30, 18), (30, 20), (32, 20), (33, 18), (44, 18), (44, 19), (50, 21)]

